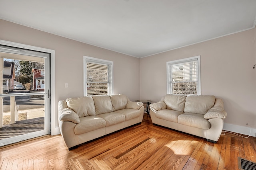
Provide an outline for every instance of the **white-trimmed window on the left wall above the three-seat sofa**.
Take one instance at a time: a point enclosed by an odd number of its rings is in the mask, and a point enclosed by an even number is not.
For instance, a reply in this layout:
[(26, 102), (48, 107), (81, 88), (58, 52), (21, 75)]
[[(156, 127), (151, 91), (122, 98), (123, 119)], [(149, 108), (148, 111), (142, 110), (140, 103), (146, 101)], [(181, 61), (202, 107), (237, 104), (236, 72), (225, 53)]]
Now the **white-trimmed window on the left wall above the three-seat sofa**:
[(84, 96), (112, 92), (113, 62), (84, 56)]

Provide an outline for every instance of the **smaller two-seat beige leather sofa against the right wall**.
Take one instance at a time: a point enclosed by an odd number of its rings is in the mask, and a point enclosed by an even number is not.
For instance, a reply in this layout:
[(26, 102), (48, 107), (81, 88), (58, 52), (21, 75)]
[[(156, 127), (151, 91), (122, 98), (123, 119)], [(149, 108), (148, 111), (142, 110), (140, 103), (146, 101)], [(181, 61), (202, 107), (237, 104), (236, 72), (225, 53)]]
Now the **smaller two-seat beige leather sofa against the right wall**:
[(223, 101), (215, 96), (167, 94), (150, 105), (150, 117), (157, 125), (206, 138), (216, 143), (226, 118)]

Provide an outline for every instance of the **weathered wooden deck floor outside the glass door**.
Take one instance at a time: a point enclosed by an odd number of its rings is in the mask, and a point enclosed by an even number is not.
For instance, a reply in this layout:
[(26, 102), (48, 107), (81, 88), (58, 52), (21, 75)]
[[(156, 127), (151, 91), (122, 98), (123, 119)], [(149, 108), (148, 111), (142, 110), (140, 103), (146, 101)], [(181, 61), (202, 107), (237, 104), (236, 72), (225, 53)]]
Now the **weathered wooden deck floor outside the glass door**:
[(16, 121), (15, 124), (5, 125), (0, 128), (0, 139), (24, 135), (44, 130), (44, 117)]

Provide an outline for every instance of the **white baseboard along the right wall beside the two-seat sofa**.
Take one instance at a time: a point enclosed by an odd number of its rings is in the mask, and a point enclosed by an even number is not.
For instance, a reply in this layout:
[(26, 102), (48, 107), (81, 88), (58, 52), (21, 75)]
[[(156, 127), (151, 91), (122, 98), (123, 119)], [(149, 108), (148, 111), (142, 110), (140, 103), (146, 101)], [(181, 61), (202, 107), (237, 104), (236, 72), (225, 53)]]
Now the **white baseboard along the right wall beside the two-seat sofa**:
[(240, 133), (243, 135), (250, 135), (252, 137), (255, 137), (256, 129), (251, 128), (250, 133), (250, 126), (239, 126), (239, 125), (232, 125), (228, 123), (224, 123), (223, 130), (231, 131), (234, 133)]

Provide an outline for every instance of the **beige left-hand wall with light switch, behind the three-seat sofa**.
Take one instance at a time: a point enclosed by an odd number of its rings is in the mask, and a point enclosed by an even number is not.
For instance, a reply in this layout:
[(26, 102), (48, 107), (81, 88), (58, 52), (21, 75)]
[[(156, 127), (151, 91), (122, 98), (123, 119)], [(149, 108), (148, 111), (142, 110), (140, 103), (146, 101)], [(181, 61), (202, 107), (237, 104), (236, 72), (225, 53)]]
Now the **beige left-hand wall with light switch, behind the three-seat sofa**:
[[(0, 39), (55, 50), (55, 126), (59, 100), (83, 96), (83, 56), (114, 62), (114, 94), (140, 98), (139, 59), (0, 20)], [(69, 88), (64, 88), (68, 83)]]

